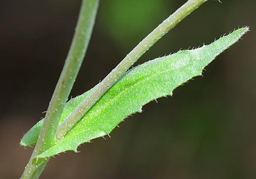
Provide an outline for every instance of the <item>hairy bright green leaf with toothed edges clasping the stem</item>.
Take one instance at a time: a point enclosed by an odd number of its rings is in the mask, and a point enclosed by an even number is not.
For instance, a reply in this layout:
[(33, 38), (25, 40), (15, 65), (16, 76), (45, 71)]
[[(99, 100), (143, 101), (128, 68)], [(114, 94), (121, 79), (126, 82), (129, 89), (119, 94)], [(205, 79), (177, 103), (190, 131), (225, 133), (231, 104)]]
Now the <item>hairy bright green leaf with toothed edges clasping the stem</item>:
[[(48, 158), (66, 150), (77, 151), (80, 144), (108, 135), (124, 118), (141, 112), (143, 105), (156, 98), (172, 95), (175, 88), (194, 76), (201, 75), (206, 65), (237, 42), (247, 31), (248, 28), (238, 29), (210, 45), (157, 58), (126, 72), (76, 123), (65, 138), (36, 156), (34, 160)], [(90, 91), (67, 103), (61, 121), (88, 93)], [(32, 127), (21, 143), (35, 143), (39, 130), (40, 122)]]

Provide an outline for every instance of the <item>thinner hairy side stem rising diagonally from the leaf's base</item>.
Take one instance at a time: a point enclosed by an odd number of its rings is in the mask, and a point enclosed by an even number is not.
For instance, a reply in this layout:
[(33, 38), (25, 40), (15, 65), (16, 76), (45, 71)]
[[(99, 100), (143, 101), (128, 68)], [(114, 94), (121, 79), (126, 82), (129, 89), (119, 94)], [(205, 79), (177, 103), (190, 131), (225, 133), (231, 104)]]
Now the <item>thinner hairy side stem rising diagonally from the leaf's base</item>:
[(89, 96), (58, 126), (57, 140), (62, 139), (76, 122), (96, 103), (96, 101), (129, 69), (152, 45), (174, 28), (182, 19), (196, 10), (207, 0), (189, 0), (176, 12), (165, 19), (158, 27), (145, 37), (105, 78)]

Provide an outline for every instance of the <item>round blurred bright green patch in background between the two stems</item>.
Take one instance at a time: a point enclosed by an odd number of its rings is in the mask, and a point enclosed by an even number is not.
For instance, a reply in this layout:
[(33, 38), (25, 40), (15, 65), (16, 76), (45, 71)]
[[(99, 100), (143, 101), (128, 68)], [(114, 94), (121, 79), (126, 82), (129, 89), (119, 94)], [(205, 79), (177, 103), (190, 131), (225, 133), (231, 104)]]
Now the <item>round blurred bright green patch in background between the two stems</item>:
[(99, 20), (104, 30), (121, 46), (134, 45), (164, 19), (172, 7), (166, 1), (110, 0), (101, 2)]

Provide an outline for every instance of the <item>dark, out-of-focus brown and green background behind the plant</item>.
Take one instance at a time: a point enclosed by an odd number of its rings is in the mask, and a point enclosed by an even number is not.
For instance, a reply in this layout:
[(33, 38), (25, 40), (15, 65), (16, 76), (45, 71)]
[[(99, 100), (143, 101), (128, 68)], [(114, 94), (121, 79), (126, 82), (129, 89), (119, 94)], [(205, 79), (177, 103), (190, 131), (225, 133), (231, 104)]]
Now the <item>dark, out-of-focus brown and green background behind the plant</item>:
[[(102, 0), (71, 92), (102, 80), (185, 0)], [(32, 147), (20, 138), (47, 110), (73, 37), (80, 1), (1, 1), (0, 178), (19, 178)], [(209, 0), (138, 61), (209, 44), (234, 28), (251, 32), (204, 76), (143, 107), (111, 139), (48, 163), (41, 178), (256, 178), (256, 1)]]

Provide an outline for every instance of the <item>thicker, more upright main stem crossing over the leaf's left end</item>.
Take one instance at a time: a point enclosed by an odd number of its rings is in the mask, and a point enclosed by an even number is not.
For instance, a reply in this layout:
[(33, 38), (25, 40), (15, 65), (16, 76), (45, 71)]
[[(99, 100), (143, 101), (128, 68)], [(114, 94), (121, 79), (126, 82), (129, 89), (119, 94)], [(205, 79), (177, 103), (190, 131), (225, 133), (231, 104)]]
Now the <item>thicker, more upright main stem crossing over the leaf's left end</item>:
[(70, 91), (86, 53), (95, 22), (98, 4), (99, 0), (82, 1), (69, 54), (53, 92), (34, 151), (21, 178), (38, 178), (48, 161), (41, 161), (39, 165), (32, 163), (33, 158), (36, 155), (50, 148), (56, 142), (55, 134), (59, 124), (59, 118), (66, 101), (68, 100)]

